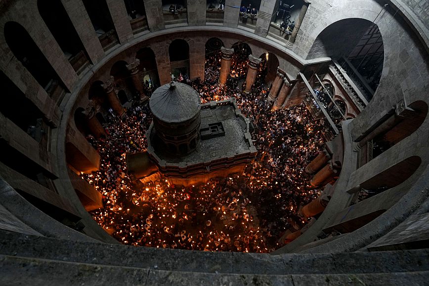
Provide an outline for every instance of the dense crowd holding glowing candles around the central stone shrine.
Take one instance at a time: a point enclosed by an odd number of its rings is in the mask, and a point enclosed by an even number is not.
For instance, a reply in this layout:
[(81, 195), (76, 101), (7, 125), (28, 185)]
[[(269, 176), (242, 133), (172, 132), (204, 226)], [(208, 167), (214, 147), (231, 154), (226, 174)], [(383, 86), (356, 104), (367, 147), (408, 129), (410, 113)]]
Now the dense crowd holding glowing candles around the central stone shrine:
[[(110, 114), (106, 137), (88, 140), (101, 156), (100, 170), (83, 178), (103, 195), (104, 208), (92, 217), (126, 245), (207, 251), (270, 252), (285, 243), (285, 235), (308, 218), (298, 209), (318, 196), (310, 189), (304, 167), (323, 145), (324, 123), (315, 121), (303, 104), (271, 112), (263, 77), (244, 93), (246, 56), (234, 55), (231, 77), (217, 83), (220, 52), (208, 53), (205, 82), (192, 85), (202, 103), (235, 97), (254, 125), (257, 157), (242, 174), (212, 179), (182, 188), (161, 174), (137, 180), (127, 172), (126, 154), (143, 152), (151, 123), (148, 105), (133, 102), (124, 118)], [(261, 65), (260, 73), (263, 74)]]

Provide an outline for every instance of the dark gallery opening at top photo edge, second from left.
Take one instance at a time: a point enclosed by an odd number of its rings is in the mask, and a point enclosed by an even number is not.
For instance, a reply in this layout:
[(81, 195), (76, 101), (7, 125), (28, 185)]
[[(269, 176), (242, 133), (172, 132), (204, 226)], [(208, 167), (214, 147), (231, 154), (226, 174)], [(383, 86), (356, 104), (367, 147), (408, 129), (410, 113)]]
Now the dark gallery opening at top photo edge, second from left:
[(119, 43), (106, 0), (82, 0), (104, 51)]

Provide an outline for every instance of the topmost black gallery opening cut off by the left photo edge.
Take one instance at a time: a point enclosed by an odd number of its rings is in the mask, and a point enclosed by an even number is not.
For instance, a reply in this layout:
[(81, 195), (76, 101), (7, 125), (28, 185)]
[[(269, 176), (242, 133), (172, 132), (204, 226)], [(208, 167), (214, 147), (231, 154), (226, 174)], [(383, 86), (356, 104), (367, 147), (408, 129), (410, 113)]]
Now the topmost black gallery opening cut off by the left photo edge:
[(40, 140), (44, 125), (42, 112), (3, 72), (0, 72), (0, 82), (3, 88), (0, 113), (31, 137)]

